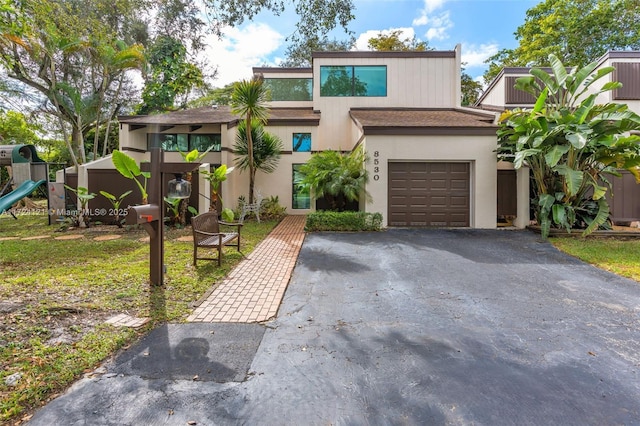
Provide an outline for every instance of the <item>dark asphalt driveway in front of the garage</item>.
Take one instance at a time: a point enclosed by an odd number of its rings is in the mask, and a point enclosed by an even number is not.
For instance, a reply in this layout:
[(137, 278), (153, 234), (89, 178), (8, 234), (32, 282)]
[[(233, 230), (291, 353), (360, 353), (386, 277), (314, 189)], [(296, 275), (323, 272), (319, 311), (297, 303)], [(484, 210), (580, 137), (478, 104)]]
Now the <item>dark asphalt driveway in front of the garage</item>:
[(321, 233), (277, 319), (162, 327), (31, 423), (631, 425), (639, 371), (640, 284), (537, 235)]

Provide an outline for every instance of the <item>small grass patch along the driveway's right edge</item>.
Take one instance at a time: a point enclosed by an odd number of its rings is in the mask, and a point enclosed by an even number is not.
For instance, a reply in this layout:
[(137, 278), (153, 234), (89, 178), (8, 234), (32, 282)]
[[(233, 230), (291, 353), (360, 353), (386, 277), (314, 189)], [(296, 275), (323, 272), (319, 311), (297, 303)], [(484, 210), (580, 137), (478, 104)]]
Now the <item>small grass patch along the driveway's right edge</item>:
[(640, 239), (564, 237), (549, 241), (584, 262), (640, 282)]

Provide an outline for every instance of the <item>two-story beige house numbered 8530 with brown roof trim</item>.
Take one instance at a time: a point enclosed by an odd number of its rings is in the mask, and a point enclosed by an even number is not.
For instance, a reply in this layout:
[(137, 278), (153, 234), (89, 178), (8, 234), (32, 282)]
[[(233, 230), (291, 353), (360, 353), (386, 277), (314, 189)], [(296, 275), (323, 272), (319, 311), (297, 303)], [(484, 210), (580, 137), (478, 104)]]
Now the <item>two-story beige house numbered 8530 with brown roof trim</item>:
[[(319, 52), (311, 68), (253, 71), (272, 92), (266, 130), (285, 145), (278, 169), (257, 174), (263, 197), (278, 196), (290, 214), (314, 210), (315, 200), (296, 185), (297, 168), (313, 152), (361, 145), (370, 159), (366, 189), (373, 200), (361, 200), (360, 209), (382, 213), (385, 225), (496, 227), (495, 113), (461, 107), (459, 46)], [(164, 147), (166, 162), (181, 161), (172, 152), (178, 147), (204, 151), (213, 145), (204, 161), (234, 165), (239, 117), (228, 107), (119, 119), (120, 149), (138, 160), (148, 159), (156, 144)], [(96, 168), (112, 168), (111, 161), (91, 163), (79, 182), (89, 182)], [(225, 205), (235, 207), (248, 188), (248, 173), (233, 171), (223, 183)], [(528, 216), (520, 219), (517, 226), (528, 224)]]

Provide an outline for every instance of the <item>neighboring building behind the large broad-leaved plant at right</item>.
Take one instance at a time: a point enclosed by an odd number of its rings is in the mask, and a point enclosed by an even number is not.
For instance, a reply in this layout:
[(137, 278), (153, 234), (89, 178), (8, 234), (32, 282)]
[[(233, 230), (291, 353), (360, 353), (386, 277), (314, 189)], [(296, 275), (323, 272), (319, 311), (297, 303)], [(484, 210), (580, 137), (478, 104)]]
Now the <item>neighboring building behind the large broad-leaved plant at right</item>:
[[(621, 88), (599, 94), (596, 98), (596, 103), (625, 103), (629, 109), (640, 114), (640, 52), (607, 52), (598, 59), (595, 71), (608, 66), (613, 66), (615, 71), (591, 87), (587, 95), (593, 93), (607, 82), (619, 81), (622, 83)], [(515, 108), (532, 108), (535, 104), (535, 98), (514, 88), (516, 79), (529, 75), (530, 69), (524, 67), (506, 67), (502, 69), (474, 106), (497, 113)], [(550, 68), (543, 69), (551, 72)], [(527, 185), (524, 180), (526, 180), (528, 171), (525, 174), (518, 171), (518, 178), (516, 178), (516, 172), (509, 163), (499, 163), (498, 168), (498, 200), (516, 198), (516, 186), (518, 188), (518, 200), (525, 198), (525, 187)], [(621, 178), (612, 179), (613, 200), (610, 200), (611, 216), (614, 222), (640, 220), (640, 185), (635, 182), (635, 178), (631, 173), (622, 171), (622, 174)], [(526, 198), (528, 200), (528, 196)], [(502, 203), (502, 205), (506, 204), (508, 203)], [(524, 208), (524, 206), (521, 206), (521, 208)], [(499, 216), (501, 215), (500, 207), (498, 214)]]

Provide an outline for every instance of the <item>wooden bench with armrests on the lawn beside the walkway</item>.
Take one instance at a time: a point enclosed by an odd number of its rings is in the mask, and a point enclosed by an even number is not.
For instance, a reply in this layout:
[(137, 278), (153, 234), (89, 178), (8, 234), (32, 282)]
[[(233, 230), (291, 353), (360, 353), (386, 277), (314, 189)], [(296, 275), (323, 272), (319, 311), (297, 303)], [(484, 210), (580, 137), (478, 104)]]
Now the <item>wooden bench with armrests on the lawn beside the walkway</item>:
[[(236, 227), (236, 232), (220, 232), (220, 225)], [(193, 229), (193, 265), (198, 260), (217, 260), (218, 266), (222, 261), (222, 248), (225, 246), (236, 247), (240, 251), (241, 223), (227, 223), (218, 220), (218, 212), (213, 210), (201, 213), (191, 218)], [(198, 248), (214, 249), (218, 251), (218, 257), (198, 257)]]

